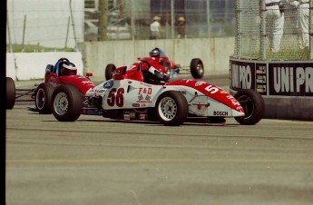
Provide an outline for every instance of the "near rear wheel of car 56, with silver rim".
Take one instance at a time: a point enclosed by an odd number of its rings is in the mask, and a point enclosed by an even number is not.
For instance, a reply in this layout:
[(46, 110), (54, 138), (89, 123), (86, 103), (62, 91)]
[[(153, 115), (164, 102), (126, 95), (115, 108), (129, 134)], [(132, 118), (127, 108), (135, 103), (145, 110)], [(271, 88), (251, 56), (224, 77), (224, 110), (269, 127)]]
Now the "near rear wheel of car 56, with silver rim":
[(60, 85), (52, 95), (52, 112), (56, 120), (74, 122), (83, 109), (82, 94), (73, 85)]

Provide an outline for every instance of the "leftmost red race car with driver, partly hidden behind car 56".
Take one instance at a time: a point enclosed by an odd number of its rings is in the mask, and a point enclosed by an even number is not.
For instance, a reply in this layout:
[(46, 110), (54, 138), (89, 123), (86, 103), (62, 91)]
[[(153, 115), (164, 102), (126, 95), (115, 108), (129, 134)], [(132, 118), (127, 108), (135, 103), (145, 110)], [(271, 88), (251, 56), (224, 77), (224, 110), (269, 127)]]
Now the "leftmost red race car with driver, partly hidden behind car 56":
[[(67, 58), (60, 58), (55, 64), (47, 64), (44, 70), (44, 82), (35, 84), (33, 88), (16, 88), (15, 81), (6, 77), (6, 109), (13, 109), (15, 102), (34, 102), (34, 110), (41, 114), (51, 114), (51, 97), (54, 88), (61, 84), (74, 85), (83, 93), (95, 85), (86, 76), (77, 75), (74, 63)], [(28, 95), (28, 97), (24, 97)]]

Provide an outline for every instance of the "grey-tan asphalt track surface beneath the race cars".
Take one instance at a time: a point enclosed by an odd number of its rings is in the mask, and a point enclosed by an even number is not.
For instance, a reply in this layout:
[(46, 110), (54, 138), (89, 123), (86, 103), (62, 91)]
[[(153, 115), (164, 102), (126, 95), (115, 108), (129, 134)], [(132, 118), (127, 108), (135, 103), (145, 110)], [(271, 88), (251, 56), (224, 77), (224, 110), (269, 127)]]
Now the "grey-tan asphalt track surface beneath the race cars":
[(57, 122), (29, 104), (6, 111), (7, 205), (313, 204), (313, 122)]

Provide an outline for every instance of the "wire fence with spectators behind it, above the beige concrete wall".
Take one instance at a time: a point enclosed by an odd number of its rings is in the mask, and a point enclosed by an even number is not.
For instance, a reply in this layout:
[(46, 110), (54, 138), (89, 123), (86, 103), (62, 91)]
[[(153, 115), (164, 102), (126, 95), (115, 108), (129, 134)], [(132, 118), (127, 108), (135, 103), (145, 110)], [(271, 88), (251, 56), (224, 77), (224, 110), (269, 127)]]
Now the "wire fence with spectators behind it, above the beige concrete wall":
[[(89, 0), (90, 1), (90, 0)], [(153, 17), (160, 17), (161, 39), (234, 36), (235, 2), (233, 0), (115, 0), (107, 5), (105, 40), (150, 39)], [(109, 1), (110, 3), (110, 1)], [(102, 15), (101, 5), (96, 14)], [(90, 13), (90, 11), (89, 11)], [(85, 40), (98, 41), (99, 15), (86, 18)], [(182, 20), (182, 21), (180, 21)], [(93, 22), (91, 24), (91, 22)], [(93, 31), (92, 31), (93, 30)]]

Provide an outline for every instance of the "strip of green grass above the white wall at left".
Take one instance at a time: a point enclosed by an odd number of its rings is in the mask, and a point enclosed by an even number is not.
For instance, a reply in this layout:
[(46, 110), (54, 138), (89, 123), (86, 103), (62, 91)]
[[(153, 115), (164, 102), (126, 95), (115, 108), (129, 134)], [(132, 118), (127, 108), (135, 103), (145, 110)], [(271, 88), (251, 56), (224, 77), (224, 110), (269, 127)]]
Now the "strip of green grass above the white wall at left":
[(49, 48), (39, 44), (6, 44), (6, 52), (13, 53), (42, 53), (42, 52), (73, 52), (73, 48)]

